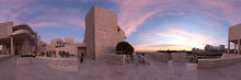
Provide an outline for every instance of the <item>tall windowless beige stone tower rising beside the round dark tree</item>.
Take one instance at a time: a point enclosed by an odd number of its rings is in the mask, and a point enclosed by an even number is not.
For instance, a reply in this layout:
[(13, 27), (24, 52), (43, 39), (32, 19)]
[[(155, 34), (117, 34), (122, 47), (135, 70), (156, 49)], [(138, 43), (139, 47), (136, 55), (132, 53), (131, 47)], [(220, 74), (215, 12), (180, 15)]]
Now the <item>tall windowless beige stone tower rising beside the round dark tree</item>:
[(88, 12), (84, 44), (89, 58), (95, 59), (104, 54), (115, 54), (115, 46), (123, 41), (125, 33), (117, 25), (115, 13), (100, 7), (93, 7)]

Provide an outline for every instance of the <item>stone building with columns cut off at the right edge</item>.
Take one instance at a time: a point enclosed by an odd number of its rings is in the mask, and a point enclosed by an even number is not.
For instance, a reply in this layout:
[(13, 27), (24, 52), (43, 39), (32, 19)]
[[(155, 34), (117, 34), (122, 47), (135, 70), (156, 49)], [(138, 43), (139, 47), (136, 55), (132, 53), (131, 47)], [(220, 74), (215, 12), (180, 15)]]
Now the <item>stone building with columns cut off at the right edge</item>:
[(228, 53), (230, 53), (230, 43), (234, 44), (234, 53), (240, 55), (241, 24), (229, 27)]

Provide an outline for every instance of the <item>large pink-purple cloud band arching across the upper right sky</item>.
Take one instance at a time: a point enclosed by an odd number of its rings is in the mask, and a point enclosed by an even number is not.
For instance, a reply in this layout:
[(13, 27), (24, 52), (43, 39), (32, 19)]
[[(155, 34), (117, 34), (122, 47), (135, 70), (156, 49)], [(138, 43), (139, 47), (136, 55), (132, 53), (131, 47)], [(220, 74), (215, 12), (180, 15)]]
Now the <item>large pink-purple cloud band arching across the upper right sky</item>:
[[(195, 1), (179, 1), (179, 0), (122, 0), (114, 1), (119, 8), (119, 24), (129, 36), (136, 32), (148, 18), (159, 14), (163, 15), (185, 15), (185, 14), (200, 14), (202, 16), (214, 18), (221, 21), (228, 21), (234, 25), (241, 22), (241, 18), (237, 18), (241, 11), (233, 8), (232, 3), (227, 0), (195, 0)], [(182, 8), (185, 9), (182, 9)], [(223, 10), (226, 15), (221, 15)], [(169, 12), (175, 10), (179, 13)], [(240, 12), (238, 12), (240, 11)], [(216, 26), (221, 31), (226, 31), (226, 26), (218, 22), (205, 22), (204, 24)]]

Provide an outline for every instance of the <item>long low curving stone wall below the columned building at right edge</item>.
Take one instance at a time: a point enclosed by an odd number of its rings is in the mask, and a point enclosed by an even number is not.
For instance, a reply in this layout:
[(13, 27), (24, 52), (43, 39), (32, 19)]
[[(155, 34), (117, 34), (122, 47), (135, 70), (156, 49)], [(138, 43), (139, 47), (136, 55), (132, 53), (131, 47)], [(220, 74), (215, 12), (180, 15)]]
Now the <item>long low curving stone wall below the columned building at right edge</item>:
[(205, 68), (216, 68), (216, 67), (222, 67), (232, 65), (236, 62), (241, 61), (241, 56), (228, 56), (225, 58), (218, 58), (218, 59), (198, 59), (198, 69), (205, 69)]

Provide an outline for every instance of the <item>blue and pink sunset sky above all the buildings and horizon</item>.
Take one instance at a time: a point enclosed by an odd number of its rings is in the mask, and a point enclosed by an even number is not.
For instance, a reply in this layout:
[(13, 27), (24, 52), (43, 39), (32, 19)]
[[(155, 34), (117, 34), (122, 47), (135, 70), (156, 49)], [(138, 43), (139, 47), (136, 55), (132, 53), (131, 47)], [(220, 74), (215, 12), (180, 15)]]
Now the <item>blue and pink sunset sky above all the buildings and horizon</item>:
[(46, 43), (82, 43), (93, 5), (117, 14), (135, 50), (227, 46), (228, 28), (241, 23), (241, 0), (0, 0), (0, 22), (27, 23)]

